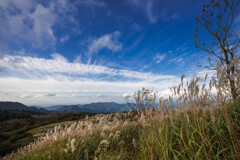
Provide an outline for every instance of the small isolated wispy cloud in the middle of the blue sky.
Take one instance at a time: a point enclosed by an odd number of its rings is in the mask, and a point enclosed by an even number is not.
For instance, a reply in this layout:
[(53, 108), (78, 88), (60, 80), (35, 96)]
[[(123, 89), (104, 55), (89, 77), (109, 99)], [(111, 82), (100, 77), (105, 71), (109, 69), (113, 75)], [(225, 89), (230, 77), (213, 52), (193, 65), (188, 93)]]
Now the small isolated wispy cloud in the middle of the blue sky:
[(122, 44), (118, 41), (119, 37), (120, 32), (115, 31), (93, 40), (88, 48), (87, 54), (92, 55), (103, 48), (107, 48), (112, 52), (120, 51), (122, 49)]

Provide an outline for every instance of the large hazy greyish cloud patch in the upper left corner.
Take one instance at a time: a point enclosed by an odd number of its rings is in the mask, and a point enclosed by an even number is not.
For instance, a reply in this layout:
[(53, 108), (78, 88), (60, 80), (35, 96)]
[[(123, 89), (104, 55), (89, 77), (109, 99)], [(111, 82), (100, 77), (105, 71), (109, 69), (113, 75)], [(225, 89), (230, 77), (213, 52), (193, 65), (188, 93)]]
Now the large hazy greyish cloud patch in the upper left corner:
[[(1, 39), (34, 48), (53, 48), (57, 37), (54, 27), (61, 20), (76, 23), (72, 15), (75, 7), (68, 0), (47, 1), (8, 0), (0, 3)], [(68, 14), (67, 14), (68, 13)]]

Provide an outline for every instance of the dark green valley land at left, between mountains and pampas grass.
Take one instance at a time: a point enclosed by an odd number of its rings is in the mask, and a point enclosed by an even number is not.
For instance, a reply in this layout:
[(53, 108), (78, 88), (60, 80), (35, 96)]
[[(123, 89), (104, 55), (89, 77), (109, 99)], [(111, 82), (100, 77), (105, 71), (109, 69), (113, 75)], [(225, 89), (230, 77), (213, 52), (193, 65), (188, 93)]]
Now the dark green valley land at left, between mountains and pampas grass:
[(86, 113), (46, 114), (0, 110), (0, 157), (33, 142), (36, 134), (41, 135), (39, 133), (53, 129), (55, 125), (59, 125), (56, 123), (78, 120), (85, 116)]

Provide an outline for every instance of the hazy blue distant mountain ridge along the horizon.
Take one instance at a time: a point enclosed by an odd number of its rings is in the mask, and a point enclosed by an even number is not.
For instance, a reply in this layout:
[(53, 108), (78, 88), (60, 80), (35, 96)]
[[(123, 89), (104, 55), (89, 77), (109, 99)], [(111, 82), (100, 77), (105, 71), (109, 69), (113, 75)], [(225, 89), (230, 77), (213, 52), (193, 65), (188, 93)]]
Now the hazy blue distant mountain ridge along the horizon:
[(86, 113), (110, 113), (128, 111), (127, 104), (118, 104), (115, 102), (98, 102), (78, 105), (55, 105), (50, 107), (28, 107), (19, 102), (0, 102), (0, 109), (27, 110), (42, 113), (68, 113), (68, 112), (86, 112)]

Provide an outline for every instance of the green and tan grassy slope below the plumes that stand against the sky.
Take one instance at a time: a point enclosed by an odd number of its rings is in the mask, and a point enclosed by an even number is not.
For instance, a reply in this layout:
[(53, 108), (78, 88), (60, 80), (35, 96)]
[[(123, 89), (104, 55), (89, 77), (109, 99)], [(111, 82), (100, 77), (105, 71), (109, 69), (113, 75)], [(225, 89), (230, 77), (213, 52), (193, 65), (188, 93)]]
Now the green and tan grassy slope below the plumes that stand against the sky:
[[(122, 127), (123, 126), (123, 127)], [(24, 148), (26, 159), (239, 159), (240, 100), (212, 110), (85, 119)], [(10, 157), (7, 157), (10, 159)]]

